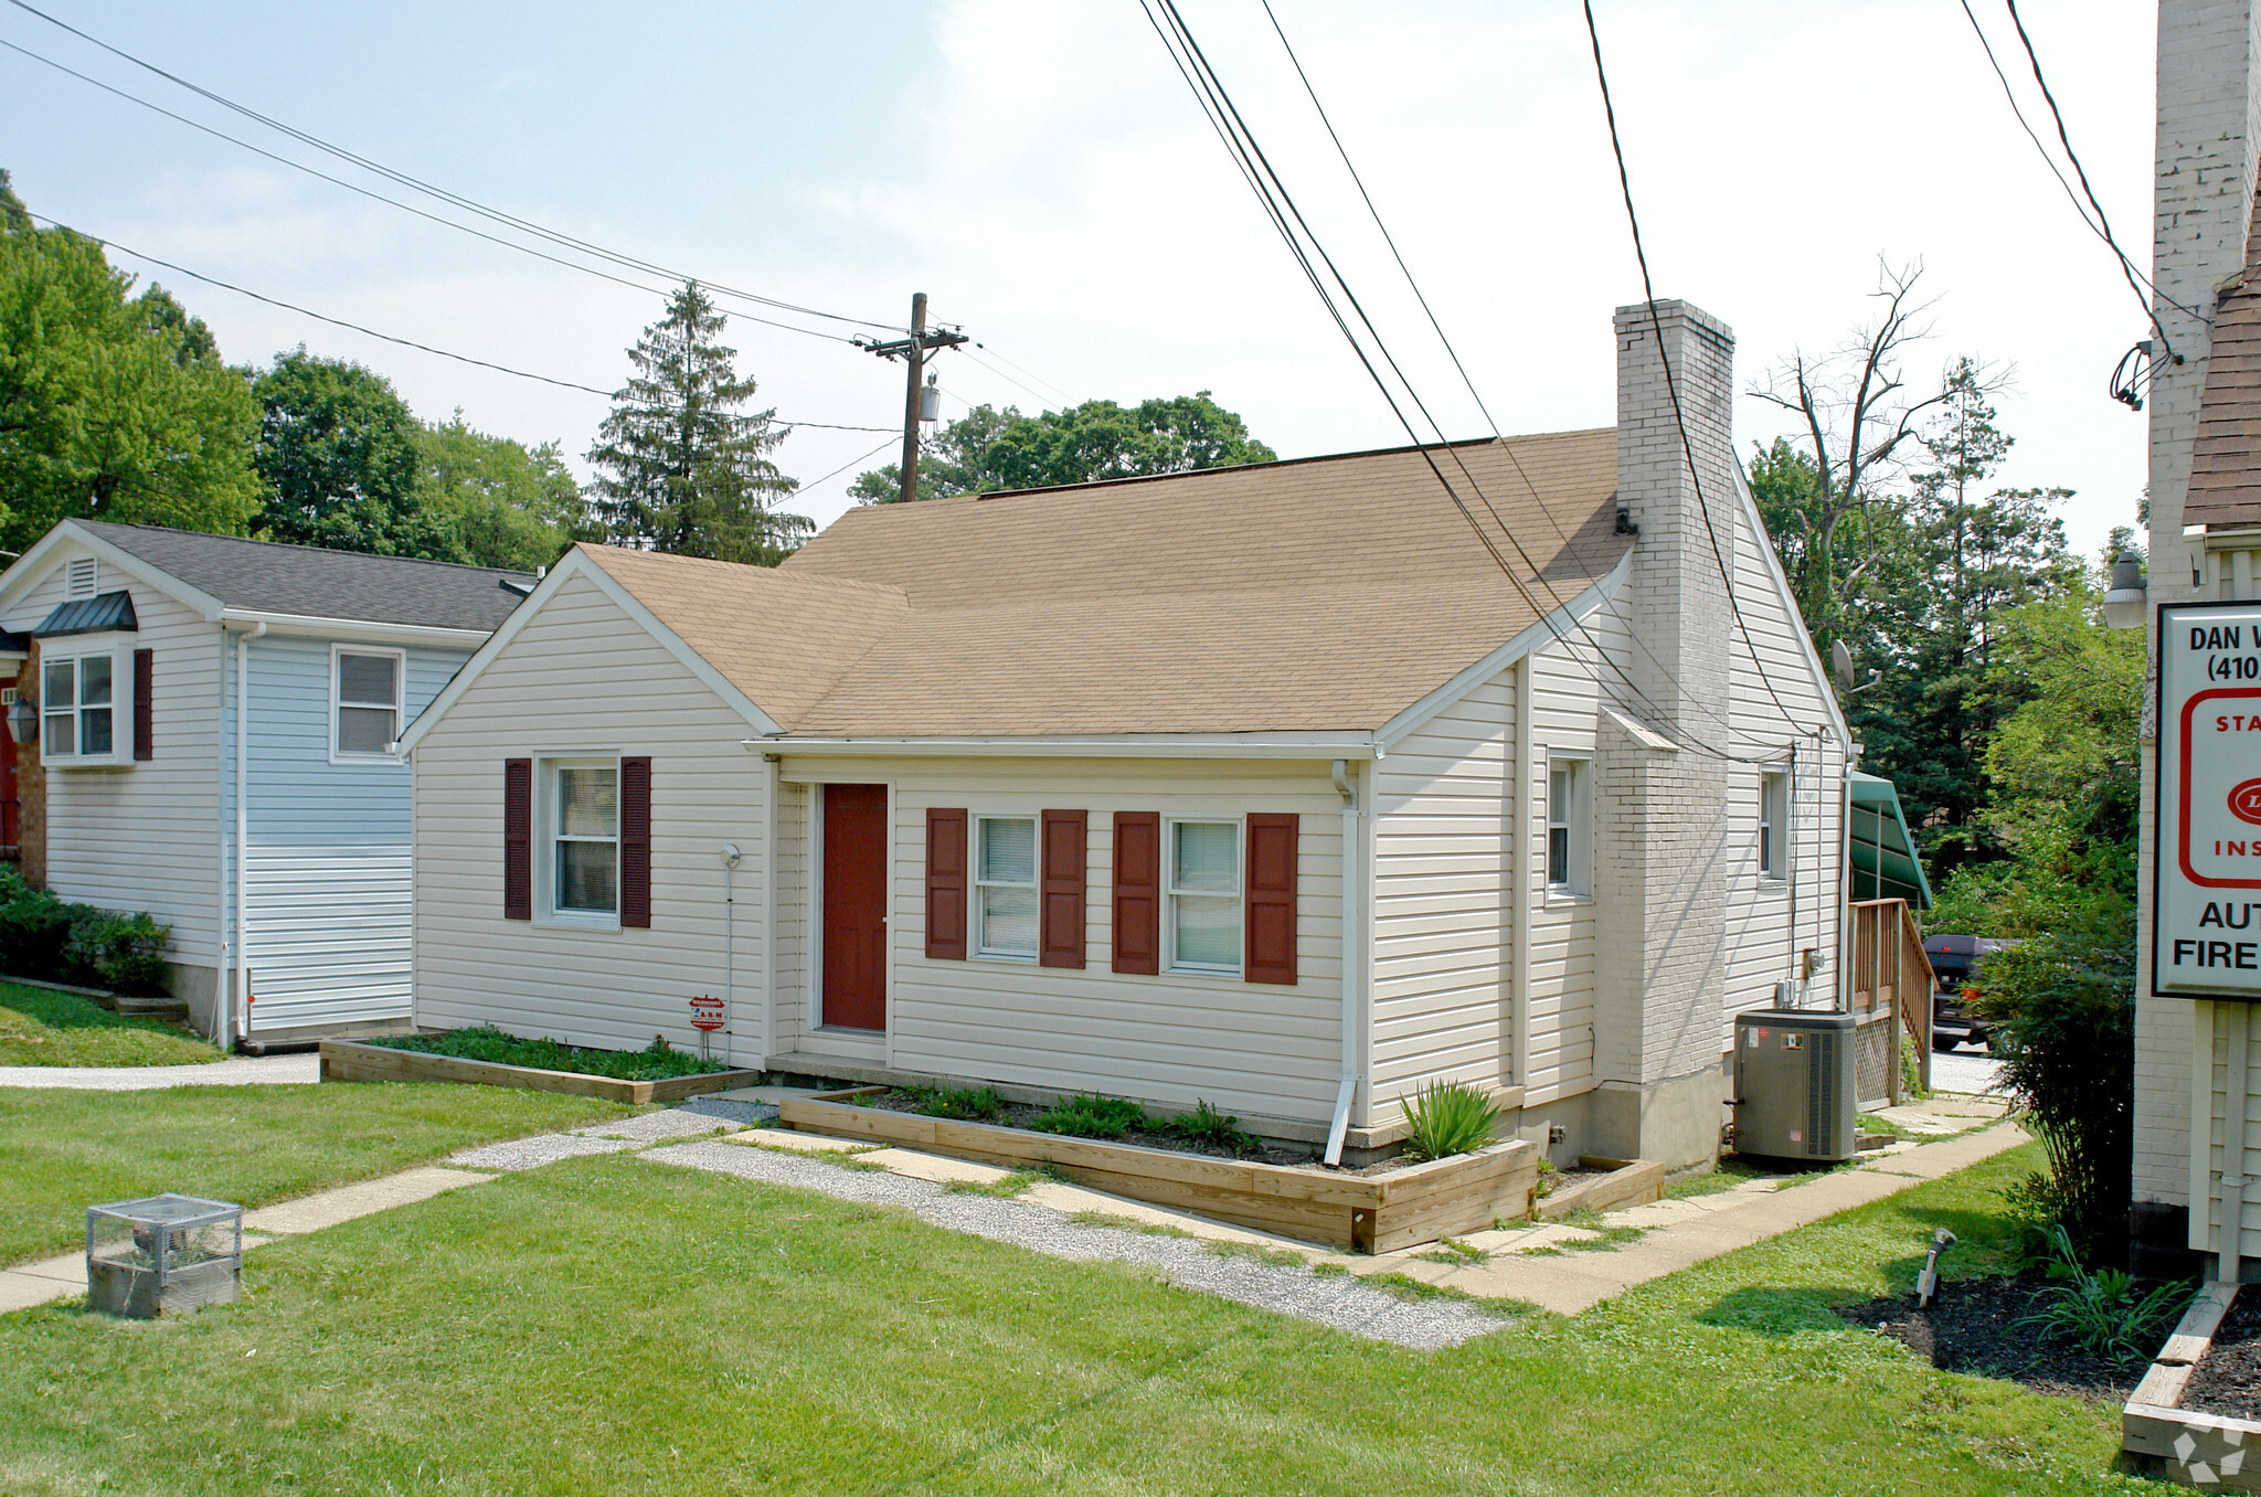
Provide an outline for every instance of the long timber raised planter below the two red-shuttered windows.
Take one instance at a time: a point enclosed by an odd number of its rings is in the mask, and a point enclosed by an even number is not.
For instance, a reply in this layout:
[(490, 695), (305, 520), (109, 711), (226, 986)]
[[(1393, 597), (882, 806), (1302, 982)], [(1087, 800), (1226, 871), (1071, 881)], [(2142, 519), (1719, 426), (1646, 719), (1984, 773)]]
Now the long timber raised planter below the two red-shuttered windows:
[(1133, 1201), (1363, 1253), (1393, 1253), (1438, 1237), (1481, 1232), (1501, 1217), (1528, 1217), (1540, 1180), (1537, 1149), (1524, 1142), (1492, 1144), (1424, 1165), (1341, 1171), (1106, 1144), (852, 1101), (884, 1090), (852, 1088), (789, 1097), (780, 1104), (778, 1122), (787, 1128), (904, 1144), (1008, 1169), (1045, 1165), (1081, 1185)]

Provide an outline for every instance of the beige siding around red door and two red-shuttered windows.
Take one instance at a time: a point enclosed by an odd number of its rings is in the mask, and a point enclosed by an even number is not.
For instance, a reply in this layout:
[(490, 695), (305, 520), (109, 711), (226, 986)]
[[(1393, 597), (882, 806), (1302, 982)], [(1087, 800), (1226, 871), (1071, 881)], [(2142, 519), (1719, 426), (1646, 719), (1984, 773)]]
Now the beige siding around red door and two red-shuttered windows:
[[(1341, 1054), (1343, 886), (1341, 796), (1327, 764), (843, 762), (787, 755), (785, 773), (891, 787), (889, 1065), (1049, 1090), (1099, 1090), (1180, 1108), (1212, 1101), (1228, 1113), (1311, 1124), (1329, 1117)], [(814, 791), (803, 805), (803, 819), (814, 816)], [(984, 957), (927, 959), (929, 807), (965, 807), (977, 816), (1090, 812), (1083, 970)], [(1112, 839), (1119, 810), (1164, 816), (1300, 814), (1293, 988), (1112, 970)], [(807, 832), (789, 841), (807, 846)], [(805, 1009), (807, 977), (780, 990), (780, 1015)], [(816, 1054), (839, 1049), (830, 1031), (807, 1033), (796, 1045)]]

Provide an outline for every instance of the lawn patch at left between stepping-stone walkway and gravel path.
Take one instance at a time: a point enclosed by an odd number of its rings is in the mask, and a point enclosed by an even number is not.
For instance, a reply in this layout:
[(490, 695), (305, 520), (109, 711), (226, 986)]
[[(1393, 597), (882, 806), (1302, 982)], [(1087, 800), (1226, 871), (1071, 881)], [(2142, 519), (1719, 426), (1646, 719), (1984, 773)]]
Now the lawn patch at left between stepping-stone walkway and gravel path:
[(629, 1110), (592, 1097), (441, 1083), (0, 1088), (0, 1264), (81, 1246), (86, 1208), (97, 1201), (176, 1189), (267, 1205)]

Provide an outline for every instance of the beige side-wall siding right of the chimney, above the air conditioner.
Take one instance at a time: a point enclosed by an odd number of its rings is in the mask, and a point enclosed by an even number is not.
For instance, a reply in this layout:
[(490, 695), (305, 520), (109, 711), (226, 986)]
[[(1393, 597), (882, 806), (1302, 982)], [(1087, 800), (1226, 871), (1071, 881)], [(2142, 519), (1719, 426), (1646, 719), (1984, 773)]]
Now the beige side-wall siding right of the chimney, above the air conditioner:
[[(1816, 1006), (1836, 1002), (1843, 959), (1845, 753), (1834, 733), (1816, 733), (1829, 721), (1829, 701), (1816, 683), (1804, 622), (1784, 602), (1766, 547), (1748, 500), (1739, 502), (1734, 602), (1743, 622), (1727, 640), (1730, 717), (1736, 753), (1768, 762), (1727, 767), (1727, 993), (1721, 1004), (1721, 1049), (1734, 1040), (1736, 1011), (1773, 1004), (1775, 984), (1797, 977), (1800, 950), (1822, 954), (1822, 970), (1807, 990), (1807, 1002)], [(1764, 678), (1759, 665), (1766, 669)], [(1779, 882), (1759, 877), (1764, 771), (1793, 773), (1793, 877)]]

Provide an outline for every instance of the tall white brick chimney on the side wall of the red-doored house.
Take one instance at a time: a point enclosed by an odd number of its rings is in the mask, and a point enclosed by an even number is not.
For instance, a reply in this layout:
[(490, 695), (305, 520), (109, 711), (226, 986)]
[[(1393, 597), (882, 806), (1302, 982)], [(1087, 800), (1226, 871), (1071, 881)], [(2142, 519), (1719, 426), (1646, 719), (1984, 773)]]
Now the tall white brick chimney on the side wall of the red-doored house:
[(1725, 1119), (1732, 403), (1723, 321), (1617, 310), (1617, 502), (1639, 527), (1619, 613), (1641, 647), (1632, 687), (1605, 674), (1596, 737), (1594, 1140), (1675, 1169), (1716, 1158)]

